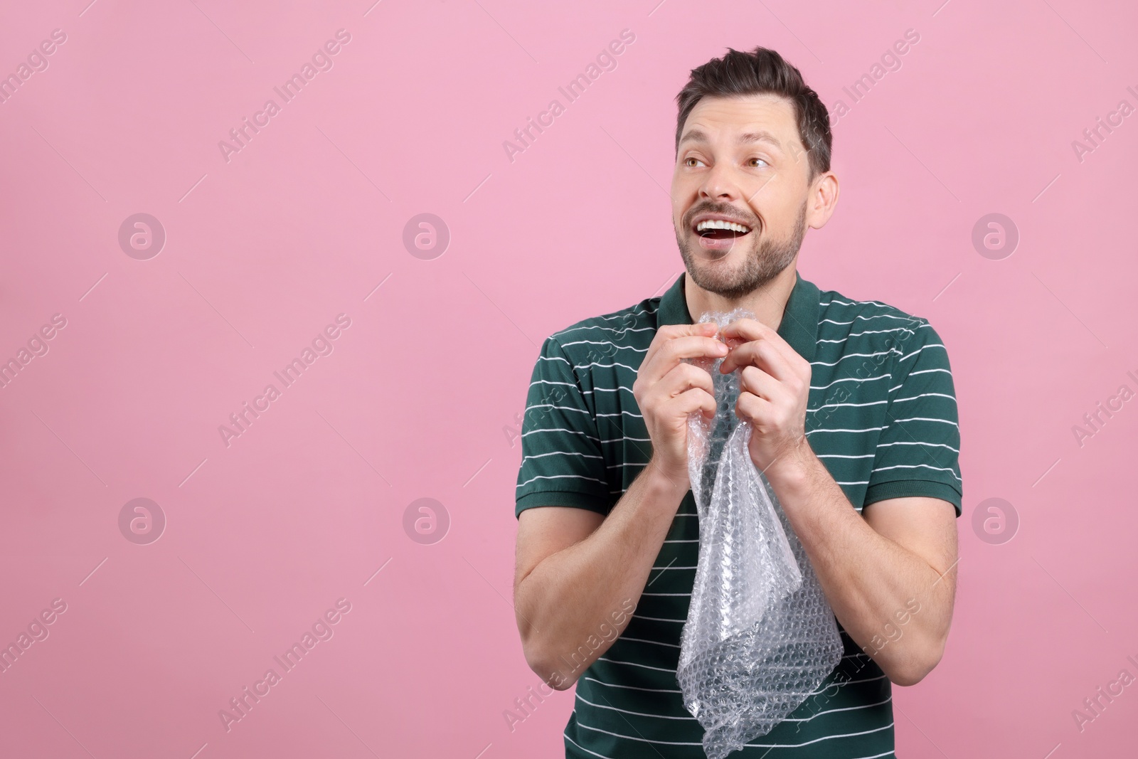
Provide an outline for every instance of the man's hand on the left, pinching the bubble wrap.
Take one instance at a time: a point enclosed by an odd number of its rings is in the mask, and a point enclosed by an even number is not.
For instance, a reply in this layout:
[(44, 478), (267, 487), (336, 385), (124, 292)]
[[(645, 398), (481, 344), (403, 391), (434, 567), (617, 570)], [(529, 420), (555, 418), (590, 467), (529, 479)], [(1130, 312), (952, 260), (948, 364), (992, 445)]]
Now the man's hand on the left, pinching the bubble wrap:
[(715, 338), (714, 322), (668, 324), (655, 332), (644, 355), (633, 395), (652, 439), (652, 461), (676, 485), (687, 486), (687, 416), (715, 416), (711, 374), (684, 358), (721, 358), (727, 346)]

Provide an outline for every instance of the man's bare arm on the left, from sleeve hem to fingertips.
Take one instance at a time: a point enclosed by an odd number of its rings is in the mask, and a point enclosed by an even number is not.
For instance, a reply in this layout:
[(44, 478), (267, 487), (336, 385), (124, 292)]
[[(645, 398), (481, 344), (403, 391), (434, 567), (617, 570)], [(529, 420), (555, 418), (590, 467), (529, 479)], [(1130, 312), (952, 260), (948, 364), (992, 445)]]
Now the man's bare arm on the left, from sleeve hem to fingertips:
[[(652, 461), (644, 470), (651, 476), (633, 480), (607, 515), (545, 506), (526, 509), (518, 518), (518, 632), (530, 668), (558, 690), (570, 687), (604, 655), (632, 619), (617, 625), (612, 611), (636, 603), (648, 586), (688, 488), (687, 416), (714, 416), (716, 410), (711, 374), (684, 358), (726, 355), (715, 333), (714, 323), (661, 327), (644, 354), (633, 395), (652, 440)], [(616, 635), (597, 647), (589, 644), (591, 653), (578, 661), (582, 643), (610, 622)], [(577, 665), (568, 673), (567, 655)]]

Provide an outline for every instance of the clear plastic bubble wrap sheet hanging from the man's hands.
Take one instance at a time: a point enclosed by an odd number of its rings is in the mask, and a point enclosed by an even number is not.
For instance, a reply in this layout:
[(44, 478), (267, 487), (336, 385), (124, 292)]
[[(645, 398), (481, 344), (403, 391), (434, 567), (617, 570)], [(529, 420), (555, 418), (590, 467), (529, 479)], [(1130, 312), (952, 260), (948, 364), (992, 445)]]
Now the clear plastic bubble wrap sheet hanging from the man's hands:
[[(753, 319), (736, 310), (700, 321), (721, 330), (742, 316)], [(721, 374), (721, 362), (692, 362), (711, 373), (716, 416), (688, 419), (700, 554), (676, 671), (709, 759), (769, 733), (842, 657), (810, 560), (748, 452), (751, 424), (735, 415), (741, 369)]]

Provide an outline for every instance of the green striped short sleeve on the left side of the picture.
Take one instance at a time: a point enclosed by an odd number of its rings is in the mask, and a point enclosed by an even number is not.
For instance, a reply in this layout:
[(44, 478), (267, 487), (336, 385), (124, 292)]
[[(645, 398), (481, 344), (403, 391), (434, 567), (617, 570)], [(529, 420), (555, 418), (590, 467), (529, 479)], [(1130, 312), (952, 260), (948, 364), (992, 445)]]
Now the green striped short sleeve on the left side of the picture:
[(514, 515), (533, 506), (609, 512), (596, 418), (561, 345), (546, 338), (526, 398)]

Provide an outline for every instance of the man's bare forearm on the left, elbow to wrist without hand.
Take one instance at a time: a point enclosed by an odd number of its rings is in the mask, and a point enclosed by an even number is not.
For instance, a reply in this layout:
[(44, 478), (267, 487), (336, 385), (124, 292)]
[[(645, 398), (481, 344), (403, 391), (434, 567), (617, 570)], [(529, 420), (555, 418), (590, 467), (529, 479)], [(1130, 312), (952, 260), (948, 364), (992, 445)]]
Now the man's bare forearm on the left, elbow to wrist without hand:
[(596, 530), (519, 579), (522, 646), (550, 685), (569, 687), (628, 626), (686, 492), (649, 464)]

